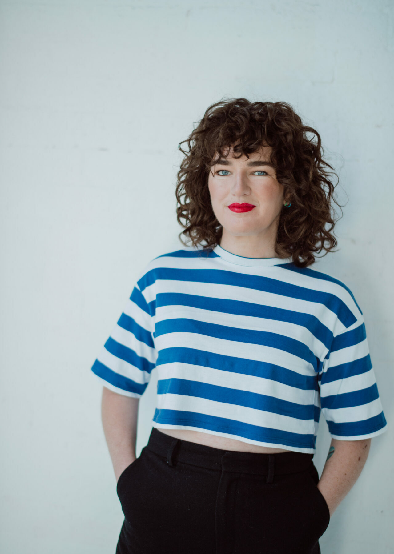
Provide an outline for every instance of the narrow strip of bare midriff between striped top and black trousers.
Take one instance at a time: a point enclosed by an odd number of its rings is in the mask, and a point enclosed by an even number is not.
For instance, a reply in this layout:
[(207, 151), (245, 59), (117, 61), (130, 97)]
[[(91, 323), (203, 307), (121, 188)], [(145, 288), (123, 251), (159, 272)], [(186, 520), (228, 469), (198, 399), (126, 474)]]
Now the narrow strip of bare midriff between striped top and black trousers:
[(175, 437), (176, 439), (188, 440), (191, 443), (204, 444), (207, 447), (220, 448), (221, 450), (237, 450), (238, 452), (257, 452), (260, 454), (277, 454), (279, 452), (291, 452), (282, 448), (263, 447), (259, 444), (244, 443), (242, 440), (219, 437), (209, 433), (193, 431), (191, 429), (164, 429), (157, 427), (161, 433)]

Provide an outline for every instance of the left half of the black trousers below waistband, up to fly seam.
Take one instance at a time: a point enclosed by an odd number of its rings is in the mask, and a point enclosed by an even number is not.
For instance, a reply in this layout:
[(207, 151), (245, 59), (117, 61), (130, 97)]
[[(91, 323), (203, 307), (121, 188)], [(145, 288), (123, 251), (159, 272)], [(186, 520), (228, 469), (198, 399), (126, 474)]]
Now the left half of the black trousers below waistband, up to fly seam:
[[(133, 464), (132, 464), (133, 465)], [(125, 515), (119, 553), (213, 554), (216, 495), (221, 472), (141, 452), (119, 483)], [(119, 478), (120, 479), (120, 478)], [(121, 550), (127, 545), (129, 550)]]

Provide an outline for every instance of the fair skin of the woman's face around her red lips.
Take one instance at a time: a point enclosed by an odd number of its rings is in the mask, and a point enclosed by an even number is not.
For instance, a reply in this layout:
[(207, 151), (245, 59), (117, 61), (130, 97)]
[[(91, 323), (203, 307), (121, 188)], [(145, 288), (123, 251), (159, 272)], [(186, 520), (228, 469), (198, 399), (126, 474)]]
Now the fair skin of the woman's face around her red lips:
[[(254, 235), (259, 241), (276, 242), (278, 222), (284, 204), (284, 187), (269, 164), (270, 147), (262, 147), (249, 158), (227, 158), (211, 167), (208, 188), (213, 212), (223, 226), (223, 239)], [(225, 152), (226, 153), (226, 152)], [(238, 155), (238, 154), (237, 154)], [(232, 211), (232, 204), (252, 204), (250, 211)]]

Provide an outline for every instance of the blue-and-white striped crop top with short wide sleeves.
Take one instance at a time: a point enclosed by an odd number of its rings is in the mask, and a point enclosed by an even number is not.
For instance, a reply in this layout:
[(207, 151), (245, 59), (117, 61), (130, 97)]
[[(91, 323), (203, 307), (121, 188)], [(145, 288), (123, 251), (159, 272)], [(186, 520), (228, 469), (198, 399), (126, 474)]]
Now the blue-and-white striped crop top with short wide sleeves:
[(151, 260), (91, 370), (141, 397), (154, 368), (153, 427), (310, 454), (320, 411), (336, 439), (387, 427), (354, 296), (291, 258), (217, 245)]

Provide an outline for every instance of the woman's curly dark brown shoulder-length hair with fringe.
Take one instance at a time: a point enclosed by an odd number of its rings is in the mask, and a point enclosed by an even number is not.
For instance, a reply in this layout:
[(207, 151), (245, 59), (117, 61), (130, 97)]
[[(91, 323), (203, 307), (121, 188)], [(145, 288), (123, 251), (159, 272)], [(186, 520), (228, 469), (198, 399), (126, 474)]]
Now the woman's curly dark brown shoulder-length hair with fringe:
[[(315, 142), (313, 137), (308, 139), (308, 133), (316, 136)], [(182, 148), (185, 142), (188, 150)], [(213, 212), (208, 189), (214, 159), (226, 157), (231, 147), (234, 157), (249, 157), (261, 146), (272, 148), (270, 162), (291, 203), (280, 213), (275, 250), (280, 258), (291, 257), (296, 266), (304, 268), (314, 263), (313, 252), (325, 250), (325, 256), (337, 245), (332, 233), (337, 222), (332, 202), (340, 206), (333, 196), (339, 178), (323, 160), (319, 133), (303, 125), (286, 102), (221, 100), (208, 107), (190, 136), (180, 142), (178, 148), (185, 157), (177, 172), (176, 198), (177, 220), (184, 230), (178, 238), (186, 245), (181, 235), (187, 236), (195, 247), (206, 242), (204, 251), (220, 243), (223, 228)], [(336, 184), (331, 175), (336, 176)], [(185, 197), (183, 202), (181, 197)]]

